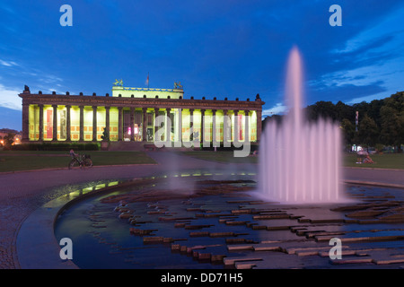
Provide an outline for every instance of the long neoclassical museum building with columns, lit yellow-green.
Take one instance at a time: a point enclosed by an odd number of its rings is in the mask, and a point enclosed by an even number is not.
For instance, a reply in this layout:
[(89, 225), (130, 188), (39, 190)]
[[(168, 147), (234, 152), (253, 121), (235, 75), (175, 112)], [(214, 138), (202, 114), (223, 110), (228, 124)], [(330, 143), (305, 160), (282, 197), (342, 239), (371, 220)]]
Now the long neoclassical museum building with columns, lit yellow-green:
[(254, 100), (185, 99), (180, 83), (148, 89), (127, 88), (122, 81), (114, 84), (112, 95), (32, 93), (25, 86), (19, 96), (22, 143), (98, 142), (104, 130), (111, 142), (153, 143), (158, 135), (172, 143), (253, 143), (261, 134), (264, 104), (259, 94)]

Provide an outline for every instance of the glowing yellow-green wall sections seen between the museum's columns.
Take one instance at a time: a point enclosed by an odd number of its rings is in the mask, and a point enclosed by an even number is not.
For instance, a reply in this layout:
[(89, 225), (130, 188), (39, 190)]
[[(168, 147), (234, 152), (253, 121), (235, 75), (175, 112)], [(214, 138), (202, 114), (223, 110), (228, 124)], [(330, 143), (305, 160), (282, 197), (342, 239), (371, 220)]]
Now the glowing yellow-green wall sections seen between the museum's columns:
[[(96, 110), (96, 141), (101, 141), (101, 135), (103, 128), (107, 126), (105, 107), (98, 107)], [(134, 112), (132, 115), (131, 112)], [(53, 140), (53, 120), (54, 109), (50, 105), (44, 105), (43, 107), (43, 140)], [(248, 124), (245, 125), (246, 115), (249, 115)], [(154, 126), (156, 116), (164, 116), (162, 123), (159, 126)], [(167, 126), (167, 116), (171, 118), (171, 130), (169, 134), (166, 133), (166, 129), (162, 128)], [(91, 106), (85, 106), (83, 109), (83, 140), (92, 141), (93, 134), (93, 109)], [(167, 109), (158, 109), (157, 115), (154, 108), (146, 109), (145, 123), (143, 122), (143, 109), (122, 109), (122, 135), (125, 140), (131, 141), (143, 141), (143, 126), (145, 124), (145, 137), (148, 142), (154, 141), (154, 133), (157, 130), (160, 132), (160, 140), (166, 141), (167, 137), (170, 137), (171, 142), (182, 141), (189, 142), (197, 140), (200, 142), (212, 142), (213, 141), (213, 128), (214, 128), (214, 116), (211, 109), (205, 110), (205, 123), (203, 123), (202, 113), (200, 109), (193, 110), (193, 122), (190, 123), (190, 111), (189, 109), (171, 109), (170, 115), (167, 115)], [(40, 140), (40, 107), (38, 105), (29, 106), (29, 139), (31, 141)], [(224, 118), (227, 120), (226, 126), (231, 131), (231, 137), (225, 141), (225, 143), (231, 143), (235, 139), (241, 142), (246, 141), (246, 130), (249, 130), (250, 142), (257, 142), (257, 128), (258, 118), (256, 111), (238, 111), (238, 115), (235, 116), (234, 111), (227, 111), (227, 116), (224, 116), (223, 110), (215, 111), (215, 141), (217, 143), (224, 143)], [(134, 126), (131, 127), (131, 121), (133, 120)], [(67, 109), (66, 106), (57, 106), (57, 141), (80, 141), (80, 109), (78, 106), (72, 106), (70, 109), (70, 138), (67, 138)], [(202, 125), (205, 124), (202, 132)], [(190, 127), (192, 126), (192, 133)], [(236, 130), (236, 126), (239, 126)], [(128, 134), (125, 129), (130, 129)], [(204, 135), (204, 138), (202, 138)], [(110, 108), (110, 141), (119, 140), (119, 109), (116, 107)], [(229, 145), (227, 145), (229, 146)]]

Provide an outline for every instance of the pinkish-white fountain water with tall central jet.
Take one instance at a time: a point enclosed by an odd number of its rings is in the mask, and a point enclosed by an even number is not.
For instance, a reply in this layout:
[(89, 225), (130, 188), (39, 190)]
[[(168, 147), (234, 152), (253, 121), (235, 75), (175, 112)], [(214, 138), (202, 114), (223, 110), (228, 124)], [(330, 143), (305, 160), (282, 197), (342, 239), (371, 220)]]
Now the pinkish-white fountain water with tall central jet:
[(282, 124), (268, 123), (259, 150), (260, 195), (282, 203), (331, 203), (342, 199), (341, 136), (327, 119), (304, 119), (302, 60), (293, 48), (287, 66)]

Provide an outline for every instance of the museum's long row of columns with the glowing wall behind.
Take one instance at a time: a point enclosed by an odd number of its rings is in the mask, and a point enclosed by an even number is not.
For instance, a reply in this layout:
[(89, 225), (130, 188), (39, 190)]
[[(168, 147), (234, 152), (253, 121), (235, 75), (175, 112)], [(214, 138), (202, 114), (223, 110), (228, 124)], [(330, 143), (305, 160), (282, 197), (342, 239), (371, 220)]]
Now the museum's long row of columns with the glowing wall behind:
[[(124, 118), (124, 113), (129, 116)], [(156, 122), (159, 114), (166, 120)], [(84, 122), (90, 116), (92, 124), (89, 120)], [(201, 142), (255, 142), (260, 136), (260, 117), (260, 110), (246, 109), (22, 104), (22, 141), (98, 142), (105, 127), (112, 134), (111, 141), (153, 142), (154, 135), (163, 127), (164, 140), (169, 135), (169, 140), (182, 141), (185, 131), (190, 130), (200, 133)], [(152, 132), (153, 137), (150, 136)]]

